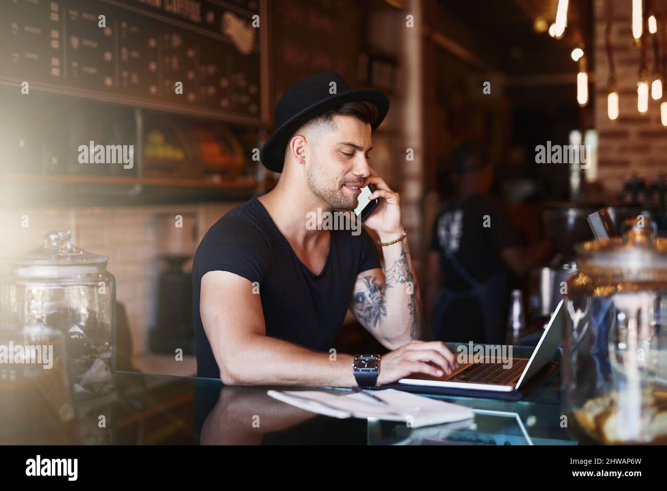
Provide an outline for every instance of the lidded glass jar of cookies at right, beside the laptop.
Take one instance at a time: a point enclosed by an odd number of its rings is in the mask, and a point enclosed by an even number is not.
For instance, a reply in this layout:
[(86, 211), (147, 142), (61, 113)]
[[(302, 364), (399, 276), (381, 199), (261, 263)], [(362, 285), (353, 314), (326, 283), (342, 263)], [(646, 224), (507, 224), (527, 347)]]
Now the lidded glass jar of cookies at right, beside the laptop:
[(564, 412), (584, 442), (667, 443), (667, 239), (638, 218), (580, 244), (568, 278)]

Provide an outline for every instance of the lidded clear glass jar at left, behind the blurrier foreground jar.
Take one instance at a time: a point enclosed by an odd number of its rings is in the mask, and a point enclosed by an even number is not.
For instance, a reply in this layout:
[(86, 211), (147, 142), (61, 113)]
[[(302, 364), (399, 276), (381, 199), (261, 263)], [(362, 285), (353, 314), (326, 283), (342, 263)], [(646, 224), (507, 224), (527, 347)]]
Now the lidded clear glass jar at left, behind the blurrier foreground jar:
[(115, 388), (115, 278), (109, 258), (73, 246), (69, 231), (49, 231), (44, 245), (9, 262), (4, 323), (63, 333), (75, 398)]

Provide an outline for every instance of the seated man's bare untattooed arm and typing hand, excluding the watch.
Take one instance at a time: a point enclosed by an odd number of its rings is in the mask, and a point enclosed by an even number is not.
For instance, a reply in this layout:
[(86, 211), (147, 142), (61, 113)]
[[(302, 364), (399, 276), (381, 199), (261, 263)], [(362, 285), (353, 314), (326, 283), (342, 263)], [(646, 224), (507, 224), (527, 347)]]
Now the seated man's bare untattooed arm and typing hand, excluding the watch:
[[(348, 354), (316, 353), (266, 336), (258, 294), (245, 278), (223, 271), (201, 278), (199, 311), (220, 378), (229, 385), (356, 386)], [(441, 342), (413, 341), (380, 362), (378, 384), (410, 374), (435, 377), (456, 368), (454, 355)]]

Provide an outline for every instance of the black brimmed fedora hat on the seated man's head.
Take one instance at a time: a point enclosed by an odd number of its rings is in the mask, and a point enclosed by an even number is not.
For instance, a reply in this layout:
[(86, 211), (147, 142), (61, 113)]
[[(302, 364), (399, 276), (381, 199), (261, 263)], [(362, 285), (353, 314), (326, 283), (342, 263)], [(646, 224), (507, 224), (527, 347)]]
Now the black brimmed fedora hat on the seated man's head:
[[(336, 85), (331, 85), (331, 82)], [(336, 93), (330, 92), (331, 87), (336, 87)], [(371, 124), (371, 131), (380, 126), (389, 111), (389, 99), (384, 93), (375, 89), (350, 90), (343, 77), (333, 71), (299, 80), (285, 91), (275, 106), (276, 128), (261, 148), (261, 163), (271, 171), (281, 172), (285, 147), (295, 131), (327, 109), (350, 101), (366, 101), (378, 107), (378, 119)]]

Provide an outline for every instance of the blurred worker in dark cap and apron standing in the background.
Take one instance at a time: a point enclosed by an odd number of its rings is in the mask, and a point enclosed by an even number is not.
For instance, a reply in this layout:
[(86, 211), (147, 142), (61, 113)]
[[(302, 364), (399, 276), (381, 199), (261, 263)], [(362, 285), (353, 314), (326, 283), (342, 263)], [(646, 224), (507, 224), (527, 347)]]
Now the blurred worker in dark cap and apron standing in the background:
[(454, 196), (436, 218), (427, 258), (433, 339), (503, 344), (509, 274), (526, 275), (552, 248), (546, 240), (522, 244), (504, 203), (490, 193), (493, 166), (480, 145), (454, 150), (451, 175)]

